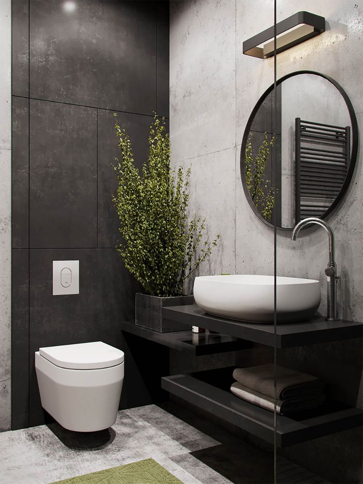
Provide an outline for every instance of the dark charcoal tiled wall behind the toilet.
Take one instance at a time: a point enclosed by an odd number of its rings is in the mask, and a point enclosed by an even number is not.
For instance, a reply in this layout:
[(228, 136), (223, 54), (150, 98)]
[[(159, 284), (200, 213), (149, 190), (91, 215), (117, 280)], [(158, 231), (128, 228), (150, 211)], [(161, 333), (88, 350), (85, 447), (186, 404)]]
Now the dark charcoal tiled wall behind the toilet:
[[(125, 351), (120, 408), (160, 399), (169, 365), (166, 350), (119, 330), (140, 288), (114, 250), (111, 201), (112, 113), (140, 167), (153, 111), (169, 117), (169, 2), (76, 1), (73, 13), (63, 4), (12, 2), (13, 429), (44, 421), (41, 346), (103, 340)], [(79, 260), (79, 295), (53, 296), (52, 261), (69, 259)]]

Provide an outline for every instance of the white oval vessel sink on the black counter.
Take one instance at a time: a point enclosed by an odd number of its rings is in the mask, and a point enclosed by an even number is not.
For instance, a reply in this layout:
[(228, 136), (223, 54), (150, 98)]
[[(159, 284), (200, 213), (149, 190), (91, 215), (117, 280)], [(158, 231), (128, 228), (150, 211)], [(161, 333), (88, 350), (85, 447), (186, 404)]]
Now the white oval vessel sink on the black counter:
[[(277, 320), (296, 322), (312, 316), (320, 304), (320, 283), (277, 277)], [(274, 321), (274, 277), (262, 275), (201, 276), (194, 299), (207, 313), (254, 323)]]

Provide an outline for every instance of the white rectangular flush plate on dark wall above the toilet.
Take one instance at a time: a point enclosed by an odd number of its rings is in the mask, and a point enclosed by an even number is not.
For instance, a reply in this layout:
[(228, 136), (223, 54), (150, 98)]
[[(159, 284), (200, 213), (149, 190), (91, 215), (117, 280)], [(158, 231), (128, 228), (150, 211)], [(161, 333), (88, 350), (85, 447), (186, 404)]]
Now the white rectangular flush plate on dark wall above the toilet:
[(79, 261), (53, 261), (53, 296), (79, 294)]

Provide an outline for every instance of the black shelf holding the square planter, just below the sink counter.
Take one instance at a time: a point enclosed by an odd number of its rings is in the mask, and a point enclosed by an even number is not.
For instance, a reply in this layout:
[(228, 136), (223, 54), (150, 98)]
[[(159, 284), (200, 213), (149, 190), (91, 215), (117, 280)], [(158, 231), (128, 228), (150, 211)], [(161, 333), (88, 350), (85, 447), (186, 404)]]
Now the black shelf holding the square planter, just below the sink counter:
[(237, 351), (252, 347), (251, 341), (219, 333), (192, 333), (191, 328), (185, 331), (158, 333), (157, 331), (137, 326), (135, 323), (123, 321), (121, 322), (121, 330), (195, 356)]

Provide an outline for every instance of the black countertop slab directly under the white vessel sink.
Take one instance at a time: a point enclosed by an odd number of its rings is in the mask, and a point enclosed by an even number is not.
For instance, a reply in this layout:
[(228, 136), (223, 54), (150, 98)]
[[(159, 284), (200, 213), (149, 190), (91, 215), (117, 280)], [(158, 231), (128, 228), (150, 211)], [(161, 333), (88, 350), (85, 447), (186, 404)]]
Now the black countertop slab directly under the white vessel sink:
[(290, 348), (363, 336), (363, 323), (354, 321), (326, 321), (318, 315), (306, 322), (278, 324), (276, 337), (273, 324), (244, 323), (207, 314), (196, 304), (171, 306), (162, 309), (163, 317), (193, 326), (218, 331), (225, 335), (256, 343)]

